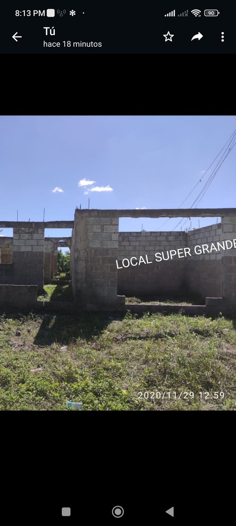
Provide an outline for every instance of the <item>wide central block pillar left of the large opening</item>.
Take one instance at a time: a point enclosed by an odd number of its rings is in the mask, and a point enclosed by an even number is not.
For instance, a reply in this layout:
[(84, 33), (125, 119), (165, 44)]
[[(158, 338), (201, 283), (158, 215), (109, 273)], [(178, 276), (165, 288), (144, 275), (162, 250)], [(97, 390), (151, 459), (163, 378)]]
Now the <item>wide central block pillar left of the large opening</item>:
[(87, 310), (119, 310), (117, 296), (119, 217), (111, 210), (76, 210), (74, 215), (73, 290)]

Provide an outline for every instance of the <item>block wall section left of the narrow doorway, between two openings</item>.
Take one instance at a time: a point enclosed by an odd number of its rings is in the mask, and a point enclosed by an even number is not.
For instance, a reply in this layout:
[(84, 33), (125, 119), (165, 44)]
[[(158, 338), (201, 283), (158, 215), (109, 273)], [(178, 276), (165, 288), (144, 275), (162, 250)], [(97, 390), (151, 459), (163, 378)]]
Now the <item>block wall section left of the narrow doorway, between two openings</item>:
[(13, 229), (14, 282), (44, 290), (44, 228)]

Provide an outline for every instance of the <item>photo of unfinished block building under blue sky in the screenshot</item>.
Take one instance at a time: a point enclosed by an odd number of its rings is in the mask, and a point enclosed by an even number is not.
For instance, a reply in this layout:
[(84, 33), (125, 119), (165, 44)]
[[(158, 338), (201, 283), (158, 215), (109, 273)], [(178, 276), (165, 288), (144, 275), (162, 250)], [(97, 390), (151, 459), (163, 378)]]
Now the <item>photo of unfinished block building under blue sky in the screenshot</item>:
[(0, 410), (236, 410), (236, 117), (0, 134)]

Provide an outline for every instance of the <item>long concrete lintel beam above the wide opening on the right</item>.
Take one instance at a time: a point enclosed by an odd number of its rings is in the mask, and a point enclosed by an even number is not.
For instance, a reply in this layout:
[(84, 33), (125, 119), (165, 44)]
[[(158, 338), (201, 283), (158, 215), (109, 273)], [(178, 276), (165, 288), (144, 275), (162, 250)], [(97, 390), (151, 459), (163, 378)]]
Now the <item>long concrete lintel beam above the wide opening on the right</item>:
[[(77, 217), (232, 217), (236, 216), (236, 208), (168, 208), (147, 210), (79, 210), (76, 209)], [(1, 223), (0, 223), (1, 226)]]

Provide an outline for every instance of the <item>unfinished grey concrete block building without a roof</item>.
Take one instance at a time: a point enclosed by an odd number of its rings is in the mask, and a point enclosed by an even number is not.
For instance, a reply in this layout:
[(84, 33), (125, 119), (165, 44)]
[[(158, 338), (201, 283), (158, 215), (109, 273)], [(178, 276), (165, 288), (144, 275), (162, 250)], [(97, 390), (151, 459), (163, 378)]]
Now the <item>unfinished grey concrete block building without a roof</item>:
[[(220, 224), (189, 232), (119, 232), (119, 217), (221, 217)], [(58, 247), (70, 248), (73, 305), (125, 310), (125, 296), (180, 298), (236, 308), (236, 209), (79, 210), (73, 221), (0, 221), (0, 307), (39, 304), (37, 294), (57, 272)], [(46, 237), (45, 228), (70, 228), (71, 237)], [(232, 240), (232, 248), (195, 254), (194, 246)], [(156, 252), (191, 249), (191, 255), (156, 261)], [(182, 252), (183, 254), (184, 252)], [(148, 263), (125, 264), (131, 258)], [(117, 263), (116, 263), (117, 261)], [(135, 259), (133, 260), (135, 261)], [(117, 268), (118, 267), (118, 268)], [(39, 307), (37, 305), (37, 307)], [(217, 307), (217, 308), (218, 308)]]

